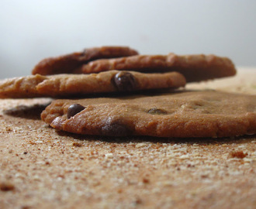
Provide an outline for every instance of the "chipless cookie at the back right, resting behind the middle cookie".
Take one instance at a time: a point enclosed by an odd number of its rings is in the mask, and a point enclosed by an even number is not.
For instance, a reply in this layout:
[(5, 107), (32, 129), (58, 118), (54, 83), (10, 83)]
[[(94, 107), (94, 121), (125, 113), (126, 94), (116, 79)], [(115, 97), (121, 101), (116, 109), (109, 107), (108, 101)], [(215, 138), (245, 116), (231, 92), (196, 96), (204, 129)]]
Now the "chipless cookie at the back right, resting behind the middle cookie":
[(215, 55), (137, 55), (116, 59), (102, 59), (82, 65), (74, 72), (78, 74), (98, 73), (106, 70), (135, 70), (140, 72), (177, 71), (187, 82), (206, 81), (236, 74), (234, 63), (227, 57)]

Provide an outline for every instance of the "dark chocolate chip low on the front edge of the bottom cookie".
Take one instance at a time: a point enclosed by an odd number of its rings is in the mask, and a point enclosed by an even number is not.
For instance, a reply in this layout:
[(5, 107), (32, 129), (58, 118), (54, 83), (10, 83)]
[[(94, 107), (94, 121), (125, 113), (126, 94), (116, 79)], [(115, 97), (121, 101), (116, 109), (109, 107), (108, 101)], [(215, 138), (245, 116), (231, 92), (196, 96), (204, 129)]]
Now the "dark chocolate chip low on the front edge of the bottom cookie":
[(106, 122), (106, 125), (102, 127), (102, 134), (112, 136), (126, 136), (129, 134), (129, 130), (125, 125), (118, 122)]

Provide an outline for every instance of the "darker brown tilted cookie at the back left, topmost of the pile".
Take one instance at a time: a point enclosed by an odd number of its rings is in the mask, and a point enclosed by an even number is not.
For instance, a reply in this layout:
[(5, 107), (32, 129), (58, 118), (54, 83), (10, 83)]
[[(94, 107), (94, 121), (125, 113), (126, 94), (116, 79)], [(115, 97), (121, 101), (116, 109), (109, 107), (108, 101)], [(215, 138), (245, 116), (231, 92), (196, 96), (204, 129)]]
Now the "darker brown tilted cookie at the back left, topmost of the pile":
[(127, 57), (137, 55), (137, 51), (125, 46), (102, 46), (85, 49), (82, 52), (71, 53), (61, 57), (50, 57), (40, 61), (33, 68), (32, 74), (68, 74), (72, 70), (91, 60)]

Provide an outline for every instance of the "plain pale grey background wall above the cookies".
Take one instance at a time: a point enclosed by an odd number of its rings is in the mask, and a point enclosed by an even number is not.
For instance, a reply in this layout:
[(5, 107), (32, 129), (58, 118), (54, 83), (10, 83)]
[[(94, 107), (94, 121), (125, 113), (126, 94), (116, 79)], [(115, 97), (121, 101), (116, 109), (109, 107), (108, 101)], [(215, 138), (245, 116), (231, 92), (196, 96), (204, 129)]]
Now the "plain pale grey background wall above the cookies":
[(254, 0), (2, 0), (0, 78), (102, 45), (143, 54), (215, 53), (256, 66)]

